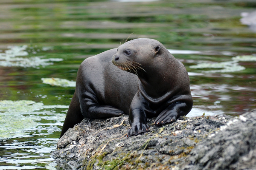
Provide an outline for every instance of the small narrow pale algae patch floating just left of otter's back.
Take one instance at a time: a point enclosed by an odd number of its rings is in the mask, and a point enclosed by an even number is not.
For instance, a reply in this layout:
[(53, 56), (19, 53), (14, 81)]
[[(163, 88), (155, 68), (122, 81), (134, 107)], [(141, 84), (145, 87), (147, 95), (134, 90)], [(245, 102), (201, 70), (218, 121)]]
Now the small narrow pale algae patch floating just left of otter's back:
[(76, 87), (76, 82), (59, 78), (41, 78), (43, 83), (61, 87)]

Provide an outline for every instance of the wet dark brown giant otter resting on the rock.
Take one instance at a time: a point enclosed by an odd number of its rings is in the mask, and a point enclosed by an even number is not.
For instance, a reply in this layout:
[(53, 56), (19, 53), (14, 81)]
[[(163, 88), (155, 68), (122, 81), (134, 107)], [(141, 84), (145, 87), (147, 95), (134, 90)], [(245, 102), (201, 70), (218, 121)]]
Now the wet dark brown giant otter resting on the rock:
[(61, 136), (84, 117), (123, 113), (131, 125), (127, 136), (133, 136), (148, 132), (147, 118), (157, 117), (156, 125), (174, 122), (192, 105), (184, 65), (157, 40), (135, 39), (81, 63)]

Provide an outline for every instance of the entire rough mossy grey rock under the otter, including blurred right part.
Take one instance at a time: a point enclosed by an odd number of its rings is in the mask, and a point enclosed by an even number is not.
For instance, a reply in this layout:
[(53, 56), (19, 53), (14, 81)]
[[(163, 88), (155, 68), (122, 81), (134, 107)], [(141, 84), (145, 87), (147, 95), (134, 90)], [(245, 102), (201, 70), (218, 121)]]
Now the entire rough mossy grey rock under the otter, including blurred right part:
[(153, 121), (151, 132), (127, 138), (128, 116), (84, 119), (62, 136), (52, 156), (67, 170), (253, 170), (256, 164), (256, 111), (229, 122), (180, 117), (157, 127)]

